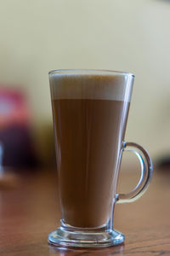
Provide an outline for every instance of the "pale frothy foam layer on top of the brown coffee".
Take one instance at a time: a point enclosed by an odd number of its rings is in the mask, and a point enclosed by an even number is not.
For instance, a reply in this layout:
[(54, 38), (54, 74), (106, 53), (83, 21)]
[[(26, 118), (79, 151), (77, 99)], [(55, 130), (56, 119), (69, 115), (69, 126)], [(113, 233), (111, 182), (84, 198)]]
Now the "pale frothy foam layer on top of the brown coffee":
[(130, 102), (130, 73), (49, 73), (52, 99), (94, 99)]

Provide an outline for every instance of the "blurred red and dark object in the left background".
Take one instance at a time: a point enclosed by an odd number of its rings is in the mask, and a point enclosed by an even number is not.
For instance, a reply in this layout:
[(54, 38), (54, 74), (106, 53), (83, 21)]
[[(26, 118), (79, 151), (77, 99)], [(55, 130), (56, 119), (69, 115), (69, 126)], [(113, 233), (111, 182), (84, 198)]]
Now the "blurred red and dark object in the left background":
[(37, 163), (30, 130), (31, 112), (20, 90), (0, 89), (0, 143), (3, 166), (31, 167)]

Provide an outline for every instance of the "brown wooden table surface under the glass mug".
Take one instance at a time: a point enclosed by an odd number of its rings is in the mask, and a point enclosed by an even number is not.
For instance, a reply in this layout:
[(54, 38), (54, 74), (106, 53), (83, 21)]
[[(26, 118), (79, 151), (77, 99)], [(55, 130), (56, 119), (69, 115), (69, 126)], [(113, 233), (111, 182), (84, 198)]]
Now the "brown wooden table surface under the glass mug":
[[(21, 175), (14, 186), (0, 183), (0, 255), (170, 255), (170, 170), (156, 170), (150, 189), (139, 201), (116, 205), (116, 230), (123, 245), (104, 249), (71, 250), (48, 245), (48, 232), (59, 225), (54, 172)], [(123, 172), (122, 188), (132, 188), (134, 172)], [(122, 192), (124, 192), (122, 191)]]

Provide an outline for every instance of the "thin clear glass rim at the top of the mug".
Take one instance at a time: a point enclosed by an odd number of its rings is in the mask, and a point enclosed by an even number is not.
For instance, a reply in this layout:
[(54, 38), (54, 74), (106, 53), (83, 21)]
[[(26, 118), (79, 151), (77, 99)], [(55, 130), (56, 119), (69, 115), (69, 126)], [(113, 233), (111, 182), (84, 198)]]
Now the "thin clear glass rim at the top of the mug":
[(83, 69), (83, 68), (75, 68), (75, 69), (54, 69), (48, 72), (48, 75), (51, 74), (71, 74), (71, 73), (75, 73), (75, 74), (115, 74), (115, 75), (128, 75), (128, 76), (132, 76), (133, 78), (135, 77), (133, 73), (129, 73), (129, 72), (123, 72), (123, 71), (115, 71), (115, 70), (110, 70), (110, 69)]

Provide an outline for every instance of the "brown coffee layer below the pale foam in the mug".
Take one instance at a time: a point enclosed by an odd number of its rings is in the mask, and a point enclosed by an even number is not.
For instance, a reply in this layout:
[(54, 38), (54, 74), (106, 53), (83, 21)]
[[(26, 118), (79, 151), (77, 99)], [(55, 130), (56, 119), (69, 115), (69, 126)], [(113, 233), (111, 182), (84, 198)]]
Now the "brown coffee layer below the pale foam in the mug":
[(129, 102), (56, 99), (53, 108), (62, 218), (99, 227), (111, 218)]

